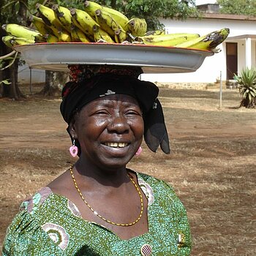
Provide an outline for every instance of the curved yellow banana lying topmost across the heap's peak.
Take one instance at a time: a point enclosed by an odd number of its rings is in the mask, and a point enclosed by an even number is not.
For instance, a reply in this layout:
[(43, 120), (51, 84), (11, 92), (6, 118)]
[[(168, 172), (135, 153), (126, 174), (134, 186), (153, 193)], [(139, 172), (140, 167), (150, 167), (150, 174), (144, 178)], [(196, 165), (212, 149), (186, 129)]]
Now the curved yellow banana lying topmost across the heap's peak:
[(116, 22), (119, 24), (119, 26), (121, 26), (124, 31), (128, 31), (127, 23), (129, 22), (129, 19), (123, 13), (109, 7), (103, 7), (102, 5), (97, 4), (94, 1), (85, 1), (84, 8), (86, 12), (88, 12), (89, 15), (91, 15), (91, 17), (93, 18), (96, 18), (95, 12), (97, 10), (103, 10), (104, 12), (108, 12), (108, 14), (111, 15), (114, 20), (116, 20)]

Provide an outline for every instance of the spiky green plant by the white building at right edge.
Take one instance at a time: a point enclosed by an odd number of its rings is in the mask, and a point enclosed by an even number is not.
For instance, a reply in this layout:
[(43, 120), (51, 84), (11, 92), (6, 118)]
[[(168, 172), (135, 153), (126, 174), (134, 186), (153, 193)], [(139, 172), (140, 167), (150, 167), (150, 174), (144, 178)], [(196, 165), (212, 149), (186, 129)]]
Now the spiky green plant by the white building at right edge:
[(240, 107), (256, 108), (256, 69), (243, 69), (234, 78), (242, 95)]

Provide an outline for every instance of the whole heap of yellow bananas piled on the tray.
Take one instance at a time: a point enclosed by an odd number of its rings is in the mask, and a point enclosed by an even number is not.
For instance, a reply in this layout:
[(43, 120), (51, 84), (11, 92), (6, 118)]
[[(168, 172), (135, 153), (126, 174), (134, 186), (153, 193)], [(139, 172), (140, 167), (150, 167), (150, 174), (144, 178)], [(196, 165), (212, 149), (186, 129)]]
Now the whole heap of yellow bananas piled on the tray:
[(15, 23), (2, 26), (7, 32), (2, 37), (7, 46), (12, 48), (35, 42), (108, 42), (216, 50), (230, 32), (225, 28), (200, 36), (165, 34), (165, 30), (147, 31), (145, 19), (129, 19), (121, 12), (94, 1), (85, 1), (83, 10), (59, 4), (50, 8), (39, 3), (36, 9), (37, 14), (29, 17), (33, 29)]

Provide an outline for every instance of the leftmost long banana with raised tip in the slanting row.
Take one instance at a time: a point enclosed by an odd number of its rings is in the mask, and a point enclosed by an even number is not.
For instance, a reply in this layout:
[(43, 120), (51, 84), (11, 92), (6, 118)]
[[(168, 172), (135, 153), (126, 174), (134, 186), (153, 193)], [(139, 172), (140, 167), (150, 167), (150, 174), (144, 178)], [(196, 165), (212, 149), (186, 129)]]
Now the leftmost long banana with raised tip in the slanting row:
[(45, 7), (42, 4), (36, 4), (37, 11), (39, 12), (40, 18), (44, 23), (50, 27), (53, 34), (58, 37), (61, 42), (70, 42), (71, 37), (69, 32), (62, 26), (61, 22), (56, 18), (55, 12), (49, 7)]

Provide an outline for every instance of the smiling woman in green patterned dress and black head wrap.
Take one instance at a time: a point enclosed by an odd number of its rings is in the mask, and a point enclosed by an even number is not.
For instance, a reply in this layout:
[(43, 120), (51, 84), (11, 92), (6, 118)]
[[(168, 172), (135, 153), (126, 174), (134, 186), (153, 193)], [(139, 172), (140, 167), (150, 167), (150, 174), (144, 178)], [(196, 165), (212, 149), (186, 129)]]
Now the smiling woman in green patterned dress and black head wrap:
[(169, 154), (162, 107), (139, 67), (74, 66), (61, 114), (79, 159), (23, 202), (3, 255), (189, 255), (187, 213), (173, 189), (127, 169), (144, 140)]

